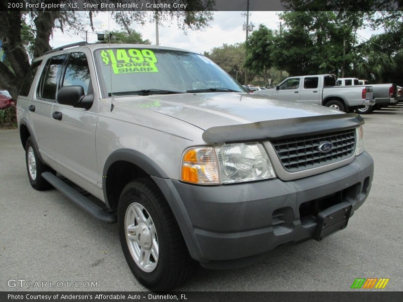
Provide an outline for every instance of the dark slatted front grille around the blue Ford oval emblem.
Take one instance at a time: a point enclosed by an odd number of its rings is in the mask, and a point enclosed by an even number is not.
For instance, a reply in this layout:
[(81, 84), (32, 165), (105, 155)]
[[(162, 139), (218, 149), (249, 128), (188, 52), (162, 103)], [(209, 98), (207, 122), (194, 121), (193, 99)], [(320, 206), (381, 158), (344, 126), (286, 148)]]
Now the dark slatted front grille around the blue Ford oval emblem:
[[(321, 153), (319, 146), (326, 141), (331, 142), (333, 148)], [(280, 139), (272, 144), (284, 169), (297, 172), (351, 157), (356, 147), (356, 130)]]

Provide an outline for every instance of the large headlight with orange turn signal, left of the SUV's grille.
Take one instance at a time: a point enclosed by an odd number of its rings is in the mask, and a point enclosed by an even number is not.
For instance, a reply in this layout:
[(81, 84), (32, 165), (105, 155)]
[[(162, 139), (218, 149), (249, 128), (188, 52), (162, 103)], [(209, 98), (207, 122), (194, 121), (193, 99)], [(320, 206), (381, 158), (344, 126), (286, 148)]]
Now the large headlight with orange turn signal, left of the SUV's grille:
[(182, 157), (181, 181), (226, 184), (274, 178), (276, 174), (260, 143), (193, 147)]

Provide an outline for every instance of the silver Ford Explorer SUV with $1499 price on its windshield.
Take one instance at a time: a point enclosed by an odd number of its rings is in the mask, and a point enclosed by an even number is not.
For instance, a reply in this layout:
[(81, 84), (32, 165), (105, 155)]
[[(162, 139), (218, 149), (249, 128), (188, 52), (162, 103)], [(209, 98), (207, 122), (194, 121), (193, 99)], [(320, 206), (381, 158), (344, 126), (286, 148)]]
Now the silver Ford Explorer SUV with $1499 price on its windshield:
[(117, 221), (128, 266), (156, 291), (196, 261), (237, 267), (320, 241), (371, 188), (359, 115), (248, 94), (181, 49), (53, 49), (33, 61), (17, 107), (32, 187)]

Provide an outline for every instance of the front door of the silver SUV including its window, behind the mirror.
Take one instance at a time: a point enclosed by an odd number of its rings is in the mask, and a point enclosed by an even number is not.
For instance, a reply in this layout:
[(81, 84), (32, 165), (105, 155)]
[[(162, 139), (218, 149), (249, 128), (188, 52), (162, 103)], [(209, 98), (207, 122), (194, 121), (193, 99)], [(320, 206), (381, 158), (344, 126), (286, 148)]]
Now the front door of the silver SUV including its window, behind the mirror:
[[(86, 53), (70, 53), (60, 87), (82, 86), (86, 95), (94, 95), (91, 80)], [(89, 110), (57, 102), (52, 109), (52, 125), (57, 133), (53, 146), (55, 161), (92, 185), (96, 185), (98, 180), (95, 148), (97, 110), (97, 102)]]

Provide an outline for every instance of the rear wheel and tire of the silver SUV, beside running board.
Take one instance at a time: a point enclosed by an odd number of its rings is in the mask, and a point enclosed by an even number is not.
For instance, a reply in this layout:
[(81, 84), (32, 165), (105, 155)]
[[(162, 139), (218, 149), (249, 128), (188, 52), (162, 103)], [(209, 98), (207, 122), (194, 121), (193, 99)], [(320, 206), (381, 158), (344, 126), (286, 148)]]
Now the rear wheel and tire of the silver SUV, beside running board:
[(51, 169), (41, 162), (31, 137), (25, 144), (25, 162), (31, 186), (39, 191), (50, 189), (52, 186), (42, 177), (42, 173)]

